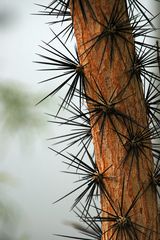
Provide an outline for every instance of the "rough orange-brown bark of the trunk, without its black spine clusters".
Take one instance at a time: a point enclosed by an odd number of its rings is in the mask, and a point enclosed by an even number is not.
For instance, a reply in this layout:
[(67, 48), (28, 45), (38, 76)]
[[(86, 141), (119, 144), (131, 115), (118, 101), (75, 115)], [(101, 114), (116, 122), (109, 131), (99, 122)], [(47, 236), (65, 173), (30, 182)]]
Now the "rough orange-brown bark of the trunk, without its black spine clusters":
[[(133, 70), (131, 58), (135, 56), (134, 38), (131, 29), (125, 33), (122, 32), (123, 38), (115, 35), (116, 43), (112, 42), (113, 38), (109, 40), (105, 36), (101, 37), (101, 39), (97, 38), (106, 25), (104, 16), (110, 19), (111, 15), (115, 14), (113, 13), (115, 4), (118, 4), (116, 11), (120, 12), (121, 21), (130, 26), (126, 2), (125, 0), (91, 0), (90, 2), (96, 19), (91, 12), (87, 11), (87, 7), (84, 4), (87, 17), (87, 21), (84, 21), (78, 1), (74, 1), (74, 14), (72, 16), (80, 62), (86, 66), (84, 72), (88, 81), (86, 86), (87, 95), (96, 101), (100, 101), (96, 94), (97, 91), (100, 91), (105, 101), (108, 102), (111, 93), (114, 92), (115, 96), (120, 92), (123, 93), (121, 101), (114, 107), (138, 123), (133, 123), (133, 131), (136, 131), (137, 128), (142, 129), (141, 126), (147, 128), (148, 122), (142, 86), (139, 79), (136, 79), (137, 76), (131, 77), (130, 75), (131, 69)], [(72, 12), (72, 1), (70, 9)], [(110, 31), (113, 33), (110, 32), (109, 34), (114, 36), (115, 26)], [(97, 39), (98, 41), (94, 44)], [(107, 44), (106, 41), (108, 41)], [(125, 100), (123, 101), (122, 99)], [(88, 102), (90, 111), (92, 107), (92, 104)], [(105, 121), (103, 123), (102, 137), (102, 121), (99, 120), (94, 124), (95, 120), (91, 115), (92, 137), (98, 168), (103, 172), (107, 166), (112, 165), (108, 171), (113, 178), (106, 178), (105, 185), (111, 199), (114, 199), (115, 206), (118, 206), (118, 202), (121, 201), (122, 182), (125, 175), (124, 211), (127, 211), (142, 185), (144, 186), (149, 181), (147, 172), (148, 169), (153, 169), (154, 164), (150, 148), (146, 148), (144, 150), (145, 155), (141, 153), (137, 160), (132, 159), (132, 156), (129, 155), (127, 160), (123, 162), (126, 156), (126, 148), (124, 146), (128, 144), (127, 140), (123, 138), (123, 136), (128, 134), (127, 124), (125, 125), (126, 121), (114, 121), (115, 129), (113, 129), (113, 125), (109, 121)], [(113, 208), (105, 197), (101, 197), (101, 208), (103, 209), (103, 217), (107, 215), (106, 212), (113, 213)], [(138, 222), (145, 228), (158, 232), (158, 206), (154, 189), (150, 187), (142, 194), (132, 212), (132, 220), (134, 222)], [(109, 239), (113, 234), (113, 230), (107, 231), (109, 226), (108, 222), (102, 221), (102, 232), (105, 232), (103, 239)], [(137, 234), (140, 236), (138, 239), (146, 239), (145, 234)], [(158, 239), (158, 235), (153, 234), (152, 239)]]

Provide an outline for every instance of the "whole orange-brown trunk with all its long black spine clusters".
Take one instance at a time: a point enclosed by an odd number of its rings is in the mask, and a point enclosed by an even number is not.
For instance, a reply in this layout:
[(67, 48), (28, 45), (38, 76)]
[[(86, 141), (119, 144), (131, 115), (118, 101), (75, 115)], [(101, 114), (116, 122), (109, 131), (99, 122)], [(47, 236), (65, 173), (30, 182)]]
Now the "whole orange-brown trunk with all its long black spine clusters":
[[(73, 131), (51, 138), (69, 142), (60, 151), (51, 149), (65, 159), (79, 185), (56, 202), (82, 189), (72, 208), (86, 227), (73, 225), (85, 237), (75, 239), (158, 240), (160, 77), (153, 69), (158, 72), (160, 66), (159, 45), (146, 41), (155, 40), (158, 15), (138, 0), (53, 0), (40, 6), (45, 8), (40, 14), (56, 17), (53, 26), (69, 22), (58, 34), (52, 30), (53, 39), (41, 46), (48, 55), (38, 54), (43, 60), (37, 61), (47, 67), (41, 70), (59, 71), (43, 82), (65, 78), (45, 98), (69, 83), (51, 122)], [(75, 55), (62, 37), (68, 33), (68, 40), (73, 32)], [(72, 115), (69, 119), (58, 115), (62, 108)], [(66, 153), (74, 146), (76, 155)]]

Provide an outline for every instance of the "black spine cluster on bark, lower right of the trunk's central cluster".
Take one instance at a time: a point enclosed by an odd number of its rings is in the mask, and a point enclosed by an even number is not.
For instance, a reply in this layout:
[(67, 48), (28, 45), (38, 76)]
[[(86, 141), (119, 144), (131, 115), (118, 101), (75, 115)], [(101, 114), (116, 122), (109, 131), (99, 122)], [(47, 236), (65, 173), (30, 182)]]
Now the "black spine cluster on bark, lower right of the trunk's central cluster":
[[(152, 150), (153, 156), (157, 159), (160, 155), (160, 143), (155, 143), (155, 140), (159, 139), (160, 132), (159, 127), (140, 127), (131, 121), (126, 123), (127, 134), (123, 135), (120, 132), (118, 134), (122, 137), (123, 146), (126, 150), (126, 155), (124, 159), (122, 159), (120, 165), (124, 167), (128, 159), (130, 159), (129, 164), (129, 173), (128, 177), (130, 177), (132, 171), (132, 165), (136, 162), (137, 167), (137, 177), (140, 178), (140, 162), (141, 161), (150, 161), (149, 156), (147, 155), (146, 150)], [(152, 143), (151, 143), (152, 141)], [(131, 157), (131, 158), (129, 158)], [(127, 173), (126, 173), (127, 174)]]

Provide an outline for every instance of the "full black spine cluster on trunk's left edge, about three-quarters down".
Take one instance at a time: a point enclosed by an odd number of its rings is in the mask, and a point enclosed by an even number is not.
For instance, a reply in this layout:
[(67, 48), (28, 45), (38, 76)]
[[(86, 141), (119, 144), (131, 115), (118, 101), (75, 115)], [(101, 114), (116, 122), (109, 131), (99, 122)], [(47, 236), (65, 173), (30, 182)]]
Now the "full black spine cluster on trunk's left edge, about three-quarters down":
[(111, 165), (108, 166), (103, 172), (100, 172), (97, 167), (96, 161), (93, 159), (93, 157), (90, 155), (89, 151), (86, 148), (85, 150), (89, 163), (84, 160), (82, 161), (82, 159), (79, 159), (73, 154), (69, 154), (69, 156), (66, 156), (62, 153), (57, 152), (53, 148), (51, 148), (51, 150), (64, 157), (67, 160), (64, 161), (64, 163), (69, 166), (69, 168), (73, 169), (72, 171), (64, 171), (65, 173), (76, 174), (81, 177), (79, 180), (76, 181), (76, 183), (80, 183), (80, 185), (73, 189), (71, 192), (67, 193), (65, 196), (58, 199), (56, 202), (69, 196), (75, 191), (84, 188), (84, 190), (75, 199), (75, 202), (72, 205), (72, 209), (77, 206), (77, 204), (82, 200), (82, 198), (86, 197), (83, 212), (86, 212), (87, 214), (91, 203), (95, 197), (99, 197), (100, 194), (103, 194), (104, 196), (106, 196), (106, 198), (110, 198), (108, 190), (106, 189), (104, 184), (104, 179), (113, 178), (113, 176), (106, 176), (107, 171), (112, 167)]

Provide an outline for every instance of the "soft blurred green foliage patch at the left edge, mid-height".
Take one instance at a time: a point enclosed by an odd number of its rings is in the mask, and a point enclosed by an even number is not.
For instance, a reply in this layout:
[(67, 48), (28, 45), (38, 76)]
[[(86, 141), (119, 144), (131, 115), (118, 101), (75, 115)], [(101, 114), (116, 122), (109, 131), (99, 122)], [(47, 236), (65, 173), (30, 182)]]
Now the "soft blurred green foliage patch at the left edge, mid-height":
[(12, 134), (17, 131), (25, 133), (25, 130), (32, 132), (42, 124), (34, 106), (38, 96), (36, 98), (34, 93), (25, 89), (22, 84), (0, 83), (1, 131), (12, 131)]

